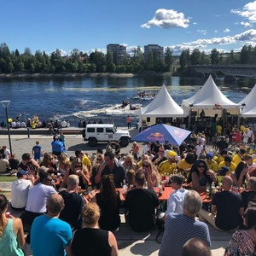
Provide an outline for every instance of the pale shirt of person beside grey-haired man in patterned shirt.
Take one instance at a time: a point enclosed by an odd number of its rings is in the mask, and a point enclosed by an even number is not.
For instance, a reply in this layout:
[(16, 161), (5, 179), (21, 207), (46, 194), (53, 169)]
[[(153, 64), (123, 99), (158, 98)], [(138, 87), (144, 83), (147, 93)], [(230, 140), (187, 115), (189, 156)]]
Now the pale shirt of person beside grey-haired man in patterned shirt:
[(184, 197), (188, 192), (187, 189), (177, 189), (172, 192), (167, 201), (166, 217), (170, 212), (183, 214)]

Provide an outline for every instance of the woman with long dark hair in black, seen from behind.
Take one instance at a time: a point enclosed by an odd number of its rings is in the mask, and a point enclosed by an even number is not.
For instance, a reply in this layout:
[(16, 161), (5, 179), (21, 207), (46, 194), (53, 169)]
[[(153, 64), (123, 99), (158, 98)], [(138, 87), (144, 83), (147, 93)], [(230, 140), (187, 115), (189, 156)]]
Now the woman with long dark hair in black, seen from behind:
[(93, 201), (101, 208), (99, 225), (102, 230), (117, 230), (120, 224), (119, 208), (121, 200), (119, 191), (116, 191), (113, 175), (104, 175), (101, 178), (102, 191), (97, 193)]

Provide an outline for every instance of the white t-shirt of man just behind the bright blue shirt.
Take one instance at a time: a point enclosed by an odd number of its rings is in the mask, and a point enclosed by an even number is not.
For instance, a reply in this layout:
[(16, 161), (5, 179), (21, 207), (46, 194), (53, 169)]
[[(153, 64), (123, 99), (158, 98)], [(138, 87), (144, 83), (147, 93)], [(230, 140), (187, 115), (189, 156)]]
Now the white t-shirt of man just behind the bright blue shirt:
[(33, 186), (27, 196), (26, 211), (44, 213), (46, 212), (46, 201), (49, 195), (56, 194), (57, 191), (51, 187), (38, 183)]

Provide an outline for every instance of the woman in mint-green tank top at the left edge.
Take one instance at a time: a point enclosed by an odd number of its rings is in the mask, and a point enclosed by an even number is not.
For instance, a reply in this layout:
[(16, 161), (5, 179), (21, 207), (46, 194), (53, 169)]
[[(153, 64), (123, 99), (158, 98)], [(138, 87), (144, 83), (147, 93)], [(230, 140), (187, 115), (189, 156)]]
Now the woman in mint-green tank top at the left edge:
[(23, 225), (20, 218), (7, 217), (8, 200), (0, 195), (0, 255), (24, 255), (25, 244)]

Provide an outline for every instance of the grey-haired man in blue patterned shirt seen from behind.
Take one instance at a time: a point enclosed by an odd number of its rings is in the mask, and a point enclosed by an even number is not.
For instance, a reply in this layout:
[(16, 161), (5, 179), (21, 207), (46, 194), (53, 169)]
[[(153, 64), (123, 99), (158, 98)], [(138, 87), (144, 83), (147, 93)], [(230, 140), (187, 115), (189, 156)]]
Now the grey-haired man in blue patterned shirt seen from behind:
[(195, 220), (201, 205), (200, 195), (195, 190), (189, 190), (184, 198), (183, 214), (170, 213), (167, 216), (159, 256), (170, 255), (170, 252), (172, 256), (181, 255), (183, 245), (193, 237), (200, 238), (211, 246), (207, 224)]

